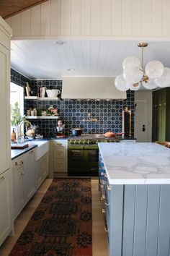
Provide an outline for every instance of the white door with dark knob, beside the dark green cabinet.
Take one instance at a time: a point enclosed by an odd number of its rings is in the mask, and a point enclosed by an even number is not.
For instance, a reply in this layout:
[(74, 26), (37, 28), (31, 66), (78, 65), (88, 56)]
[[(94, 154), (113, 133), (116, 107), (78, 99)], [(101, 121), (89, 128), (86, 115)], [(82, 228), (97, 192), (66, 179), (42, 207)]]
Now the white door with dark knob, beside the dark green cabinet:
[[(135, 134), (137, 142), (152, 141), (152, 93), (148, 91), (136, 91), (135, 103), (140, 107), (135, 111)], [(138, 121), (140, 119), (140, 121)], [(142, 132), (141, 124), (146, 125), (146, 132)], [(140, 127), (139, 127), (140, 125)], [(140, 139), (140, 140), (138, 140)]]

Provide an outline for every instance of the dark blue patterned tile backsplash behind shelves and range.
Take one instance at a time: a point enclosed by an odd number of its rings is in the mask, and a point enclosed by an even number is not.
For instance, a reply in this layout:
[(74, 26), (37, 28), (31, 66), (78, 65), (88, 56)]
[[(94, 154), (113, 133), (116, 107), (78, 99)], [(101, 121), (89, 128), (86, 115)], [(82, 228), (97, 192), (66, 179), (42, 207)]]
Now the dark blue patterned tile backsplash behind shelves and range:
[[(12, 82), (15, 82), (15, 77), (18, 73), (12, 71)], [(19, 74), (20, 75), (20, 74)], [(18, 76), (19, 76), (18, 75)], [(24, 86), (25, 82), (30, 83), (31, 90), (39, 91), (40, 87), (45, 86), (47, 89), (59, 89), (62, 92), (61, 80), (28, 80), (22, 75), (17, 78), (20, 85)], [(18, 83), (17, 83), (18, 84)], [(61, 95), (59, 95), (61, 97)], [(108, 131), (122, 132), (122, 110), (125, 106), (132, 111), (132, 135), (134, 131), (134, 92), (128, 90), (127, 99), (122, 101), (116, 100), (100, 100), (100, 101), (85, 101), (85, 100), (61, 100), (61, 101), (24, 101), (24, 111), (27, 108), (37, 108), (40, 112), (53, 105), (58, 108), (58, 112), (65, 123), (66, 135), (69, 135), (72, 128), (81, 127), (84, 133), (105, 133)], [(88, 119), (88, 114), (98, 121), (83, 121)], [(53, 136), (54, 129), (57, 127), (56, 119), (32, 119), (32, 124), (39, 127), (40, 133), (45, 137)]]

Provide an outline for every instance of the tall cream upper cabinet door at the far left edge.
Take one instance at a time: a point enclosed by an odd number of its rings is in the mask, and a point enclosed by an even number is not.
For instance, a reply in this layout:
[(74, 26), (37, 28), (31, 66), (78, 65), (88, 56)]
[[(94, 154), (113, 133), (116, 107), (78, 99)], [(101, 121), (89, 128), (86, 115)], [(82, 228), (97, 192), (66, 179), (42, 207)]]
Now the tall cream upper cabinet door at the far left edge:
[(0, 174), (10, 168), (9, 51), (0, 44)]

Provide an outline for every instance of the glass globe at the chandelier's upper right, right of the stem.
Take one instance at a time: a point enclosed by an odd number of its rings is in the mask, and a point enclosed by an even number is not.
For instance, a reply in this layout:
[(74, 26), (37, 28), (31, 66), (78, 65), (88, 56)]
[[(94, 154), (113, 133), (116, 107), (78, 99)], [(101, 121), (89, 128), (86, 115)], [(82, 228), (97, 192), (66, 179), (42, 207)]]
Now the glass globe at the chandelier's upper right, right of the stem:
[(146, 65), (146, 74), (149, 78), (154, 79), (161, 77), (164, 73), (164, 66), (161, 61), (149, 61)]

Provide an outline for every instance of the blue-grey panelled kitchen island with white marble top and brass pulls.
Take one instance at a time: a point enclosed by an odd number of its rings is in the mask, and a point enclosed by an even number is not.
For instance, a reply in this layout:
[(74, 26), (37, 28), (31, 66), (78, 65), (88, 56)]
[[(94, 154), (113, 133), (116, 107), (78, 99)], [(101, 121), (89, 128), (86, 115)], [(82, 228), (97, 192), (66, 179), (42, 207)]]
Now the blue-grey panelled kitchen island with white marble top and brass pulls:
[(109, 256), (169, 255), (169, 148), (99, 143), (99, 189)]

